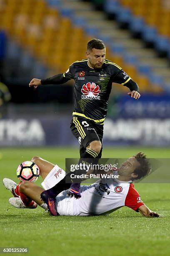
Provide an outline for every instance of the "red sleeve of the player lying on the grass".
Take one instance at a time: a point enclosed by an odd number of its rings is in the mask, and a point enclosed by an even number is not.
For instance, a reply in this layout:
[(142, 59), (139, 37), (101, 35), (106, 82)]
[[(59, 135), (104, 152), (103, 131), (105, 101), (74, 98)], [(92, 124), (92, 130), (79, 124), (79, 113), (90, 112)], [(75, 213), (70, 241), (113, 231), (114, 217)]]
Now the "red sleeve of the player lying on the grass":
[(135, 211), (139, 211), (138, 208), (141, 205), (145, 205), (144, 202), (140, 199), (138, 191), (134, 188), (134, 185), (131, 183), (129, 187), (128, 194), (125, 199), (125, 206), (130, 207)]

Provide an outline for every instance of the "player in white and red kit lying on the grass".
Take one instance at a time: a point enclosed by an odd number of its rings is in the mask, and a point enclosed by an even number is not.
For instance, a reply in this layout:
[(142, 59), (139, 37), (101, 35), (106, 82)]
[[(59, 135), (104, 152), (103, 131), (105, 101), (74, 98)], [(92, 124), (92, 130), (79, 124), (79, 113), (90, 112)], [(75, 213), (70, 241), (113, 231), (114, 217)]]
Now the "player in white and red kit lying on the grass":
[[(40, 157), (33, 157), (40, 168), (40, 175), (44, 179), (45, 187), (53, 186), (57, 182), (56, 174), (62, 173), (62, 169)], [(145, 154), (138, 153), (125, 161), (117, 170), (117, 179), (100, 179), (92, 185), (80, 187), (82, 197), (79, 200), (67, 197), (67, 187), (57, 195), (53, 215), (103, 215), (111, 213), (120, 207), (127, 206), (145, 217), (159, 217), (159, 214), (151, 211), (141, 200), (139, 193), (133, 185), (133, 180), (141, 179), (150, 172), (150, 163)], [(43, 188), (32, 182), (22, 182), (17, 185), (11, 179), (3, 179), (5, 187), (15, 193), (17, 197), (10, 198), (11, 205), (17, 208), (35, 208), (40, 205), (47, 209), (47, 205), (40, 200)], [(23, 202), (19, 197), (25, 195), (28, 202)], [(25, 200), (25, 199), (24, 199)]]

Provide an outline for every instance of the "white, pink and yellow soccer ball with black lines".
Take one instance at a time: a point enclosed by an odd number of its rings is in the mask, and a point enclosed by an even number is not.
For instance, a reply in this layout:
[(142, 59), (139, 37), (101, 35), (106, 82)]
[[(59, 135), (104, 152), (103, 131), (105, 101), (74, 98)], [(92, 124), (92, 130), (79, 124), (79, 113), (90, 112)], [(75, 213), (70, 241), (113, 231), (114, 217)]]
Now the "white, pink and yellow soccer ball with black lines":
[(21, 181), (28, 180), (35, 182), (40, 176), (39, 167), (32, 161), (25, 161), (21, 163), (17, 168), (17, 177)]

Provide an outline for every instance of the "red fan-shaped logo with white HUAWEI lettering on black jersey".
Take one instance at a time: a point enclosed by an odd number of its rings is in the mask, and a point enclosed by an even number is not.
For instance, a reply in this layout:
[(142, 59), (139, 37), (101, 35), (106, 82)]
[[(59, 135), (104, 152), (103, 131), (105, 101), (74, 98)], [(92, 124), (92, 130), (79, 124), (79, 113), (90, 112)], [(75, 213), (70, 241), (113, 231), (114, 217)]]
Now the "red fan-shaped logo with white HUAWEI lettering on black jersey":
[(88, 100), (100, 100), (100, 88), (95, 83), (88, 82), (82, 86), (81, 92), (83, 93), (82, 99)]

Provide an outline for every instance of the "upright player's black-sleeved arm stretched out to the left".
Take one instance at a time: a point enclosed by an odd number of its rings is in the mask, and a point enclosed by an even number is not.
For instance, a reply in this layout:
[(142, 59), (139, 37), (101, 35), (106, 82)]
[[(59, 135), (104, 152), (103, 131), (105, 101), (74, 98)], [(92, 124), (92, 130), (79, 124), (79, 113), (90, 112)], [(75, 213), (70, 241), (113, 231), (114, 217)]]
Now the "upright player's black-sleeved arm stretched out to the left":
[(37, 79), (37, 78), (33, 78), (30, 83), (29, 83), (29, 87), (34, 87), (37, 88), (39, 85), (43, 85), (43, 84), (64, 84), (66, 83), (68, 80), (70, 80), (69, 78), (65, 77), (63, 74), (56, 74), (53, 77), (49, 77), (46, 79)]

